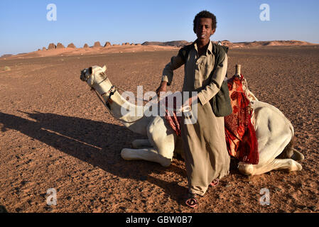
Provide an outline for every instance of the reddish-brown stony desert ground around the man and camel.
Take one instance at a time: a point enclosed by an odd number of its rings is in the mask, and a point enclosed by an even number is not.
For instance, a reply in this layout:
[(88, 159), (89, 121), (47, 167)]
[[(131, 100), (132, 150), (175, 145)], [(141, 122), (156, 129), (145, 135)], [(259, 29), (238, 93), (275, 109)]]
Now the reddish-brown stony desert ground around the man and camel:
[[(144, 137), (107, 113), (80, 81), (80, 70), (107, 64), (113, 84), (135, 94), (137, 85), (155, 91), (177, 50), (0, 59), (1, 211), (318, 212), (318, 45), (229, 50), (228, 74), (241, 64), (257, 98), (291, 120), (294, 147), (306, 157), (300, 172), (249, 178), (233, 165), (198, 209), (190, 209), (184, 205), (183, 160), (162, 167), (121, 159), (122, 148)], [(182, 82), (183, 67), (171, 90)], [(46, 203), (50, 188), (57, 191), (57, 205)], [(269, 189), (269, 206), (259, 203), (263, 188)]]

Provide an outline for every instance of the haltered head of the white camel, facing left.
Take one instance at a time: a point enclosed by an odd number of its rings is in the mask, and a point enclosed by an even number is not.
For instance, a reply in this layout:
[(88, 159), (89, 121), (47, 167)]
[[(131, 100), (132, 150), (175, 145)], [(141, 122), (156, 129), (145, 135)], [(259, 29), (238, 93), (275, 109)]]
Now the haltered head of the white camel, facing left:
[(103, 67), (94, 65), (92, 67), (81, 70), (80, 79), (83, 82), (87, 82), (87, 84), (97, 90), (99, 94), (103, 94), (109, 91), (109, 89), (112, 87), (112, 84), (111, 82), (109, 82), (107, 74), (105, 73), (106, 71), (106, 65), (104, 65)]

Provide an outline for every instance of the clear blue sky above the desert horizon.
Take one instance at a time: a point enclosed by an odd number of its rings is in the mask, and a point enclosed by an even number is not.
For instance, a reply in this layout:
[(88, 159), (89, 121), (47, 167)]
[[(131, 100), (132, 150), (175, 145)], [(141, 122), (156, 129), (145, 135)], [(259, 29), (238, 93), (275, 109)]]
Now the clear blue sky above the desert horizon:
[[(57, 21), (47, 20), (48, 4), (56, 5)], [(261, 4), (269, 4), (270, 21), (259, 19)], [(318, 0), (1, 0), (0, 56), (49, 43), (193, 41), (193, 18), (204, 9), (217, 17), (211, 40), (319, 43)]]

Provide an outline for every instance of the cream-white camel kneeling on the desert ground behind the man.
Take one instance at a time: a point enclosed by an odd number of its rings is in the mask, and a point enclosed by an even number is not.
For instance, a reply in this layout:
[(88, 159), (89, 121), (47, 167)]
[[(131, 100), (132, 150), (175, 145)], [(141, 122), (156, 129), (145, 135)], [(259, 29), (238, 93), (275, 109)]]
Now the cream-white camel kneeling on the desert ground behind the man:
[[(124, 99), (117, 87), (113, 86), (105, 74), (107, 67), (93, 66), (81, 71), (80, 79), (102, 96), (101, 101), (109, 112), (134, 133), (146, 135), (148, 139), (134, 140), (131, 148), (121, 150), (124, 160), (147, 160), (158, 162), (164, 167), (171, 165), (173, 154), (183, 156), (180, 138), (168, 126), (164, 116), (132, 116), (122, 114), (122, 107), (133, 108), (136, 113), (144, 113), (144, 106), (136, 106)], [(239, 73), (240, 74), (240, 73)], [(252, 94), (252, 93), (250, 93)], [(253, 94), (252, 94), (253, 96)], [(254, 97), (254, 96), (253, 96)], [(291, 122), (274, 106), (257, 101), (254, 98), (254, 128), (259, 148), (259, 163), (251, 165), (239, 162), (238, 169), (244, 175), (261, 175), (271, 170), (301, 170), (296, 162), (303, 155), (291, 147), (293, 126)], [(287, 148), (286, 148), (287, 147)], [(286, 148), (286, 149), (285, 149)], [(280, 158), (279, 158), (280, 155)]]

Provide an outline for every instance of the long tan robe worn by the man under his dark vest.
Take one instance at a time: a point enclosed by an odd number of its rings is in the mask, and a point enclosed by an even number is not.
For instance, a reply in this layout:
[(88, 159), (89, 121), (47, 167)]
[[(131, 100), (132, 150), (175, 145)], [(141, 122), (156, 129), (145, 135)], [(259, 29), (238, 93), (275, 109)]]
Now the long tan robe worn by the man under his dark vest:
[(214, 46), (210, 42), (207, 52), (198, 56), (198, 48), (194, 42), (185, 62), (179, 52), (163, 70), (162, 81), (170, 85), (173, 70), (185, 63), (183, 92), (198, 92), (198, 120), (194, 124), (185, 124), (183, 116), (181, 128), (188, 189), (200, 196), (205, 194), (213, 179), (221, 179), (229, 173), (230, 157), (225, 141), (224, 117), (216, 117), (209, 102), (219, 92), (225, 79), (227, 55), (223, 58), (212, 74), (215, 63)]

